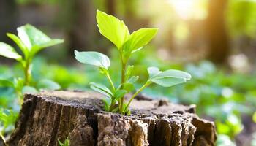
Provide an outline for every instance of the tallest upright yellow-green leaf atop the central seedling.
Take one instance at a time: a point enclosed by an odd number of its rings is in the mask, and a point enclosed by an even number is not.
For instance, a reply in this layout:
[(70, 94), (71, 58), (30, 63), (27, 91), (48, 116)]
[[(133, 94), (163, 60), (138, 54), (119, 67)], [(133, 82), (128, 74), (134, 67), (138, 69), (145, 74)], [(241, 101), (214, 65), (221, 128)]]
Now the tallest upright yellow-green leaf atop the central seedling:
[(129, 30), (124, 22), (99, 10), (97, 10), (96, 19), (100, 34), (120, 49), (129, 37)]

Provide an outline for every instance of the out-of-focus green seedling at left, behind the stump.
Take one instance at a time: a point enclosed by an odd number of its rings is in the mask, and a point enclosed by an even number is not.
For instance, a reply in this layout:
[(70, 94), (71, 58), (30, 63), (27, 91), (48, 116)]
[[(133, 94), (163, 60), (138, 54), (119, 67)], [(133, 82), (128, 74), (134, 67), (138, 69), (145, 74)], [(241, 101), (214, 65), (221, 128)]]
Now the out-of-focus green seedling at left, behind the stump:
[[(7, 37), (10, 37), (20, 48), (23, 55), (20, 55), (16, 52), (15, 48), (7, 45), (4, 42), (0, 42), (0, 55), (12, 58), (18, 61), (24, 72), (24, 78), (15, 78), (12, 80), (5, 80), (0, 78), (0, 85), (10, 86), (15, 88), (20, 99), (23, 97), (22, 91), (36, 92), (37, 90), (31, 87), (32, 76), (31, 76), (31, 62), (40, 50), (45, 47), (50, 47), (64, 42), (63, 39), (50, 39), (47, 35), (39, 31), (34, 26), (26, 24), (25, 26), (20, 26), (17, 28), (18, 36), (15, 34), (7, 33)], [(50, 83), (51, 85), (54, 82), (49, 80), (43, 80), (42, 83)]]

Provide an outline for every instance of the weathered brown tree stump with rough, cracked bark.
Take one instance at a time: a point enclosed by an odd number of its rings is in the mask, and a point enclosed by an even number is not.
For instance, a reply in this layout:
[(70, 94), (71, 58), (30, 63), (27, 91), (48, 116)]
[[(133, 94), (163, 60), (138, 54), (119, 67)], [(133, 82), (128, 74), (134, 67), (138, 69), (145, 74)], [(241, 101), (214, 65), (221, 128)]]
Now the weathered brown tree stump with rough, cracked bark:
[(214, 145), (214, 123), (195, 115), (195, 105), (138, 96), (131, 115), (104, 112), (102, 95), (79, 91), (26, 94), (7, 145), (58, 145), (69, 137), (82, 145)]

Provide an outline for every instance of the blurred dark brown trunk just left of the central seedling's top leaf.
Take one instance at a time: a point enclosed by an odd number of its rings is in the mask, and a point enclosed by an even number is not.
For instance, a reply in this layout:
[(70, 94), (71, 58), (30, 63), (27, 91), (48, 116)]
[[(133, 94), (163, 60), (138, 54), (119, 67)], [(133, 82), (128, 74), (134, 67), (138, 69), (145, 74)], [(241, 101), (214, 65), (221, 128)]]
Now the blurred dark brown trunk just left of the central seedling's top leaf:
[(89, 50), (94, 47), (95, 12), (92, 1), (73, 0), (71, 28), (68, 32), (69, 53), (74, 49)]

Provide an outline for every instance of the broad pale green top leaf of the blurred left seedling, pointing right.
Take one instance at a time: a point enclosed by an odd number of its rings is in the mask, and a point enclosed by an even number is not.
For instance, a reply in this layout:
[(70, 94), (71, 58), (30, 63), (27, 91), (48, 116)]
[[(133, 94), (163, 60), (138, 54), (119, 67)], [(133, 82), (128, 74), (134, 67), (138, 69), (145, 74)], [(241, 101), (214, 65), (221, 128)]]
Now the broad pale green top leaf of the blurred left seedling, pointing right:
[(32, 55), (37, 53), (39, 50), (42, 50), (42, 48), (64, 42), (63, 39), (50, 39), (50, 37), (30, 24), (20, 26), (17, 30), (18, 37)]

